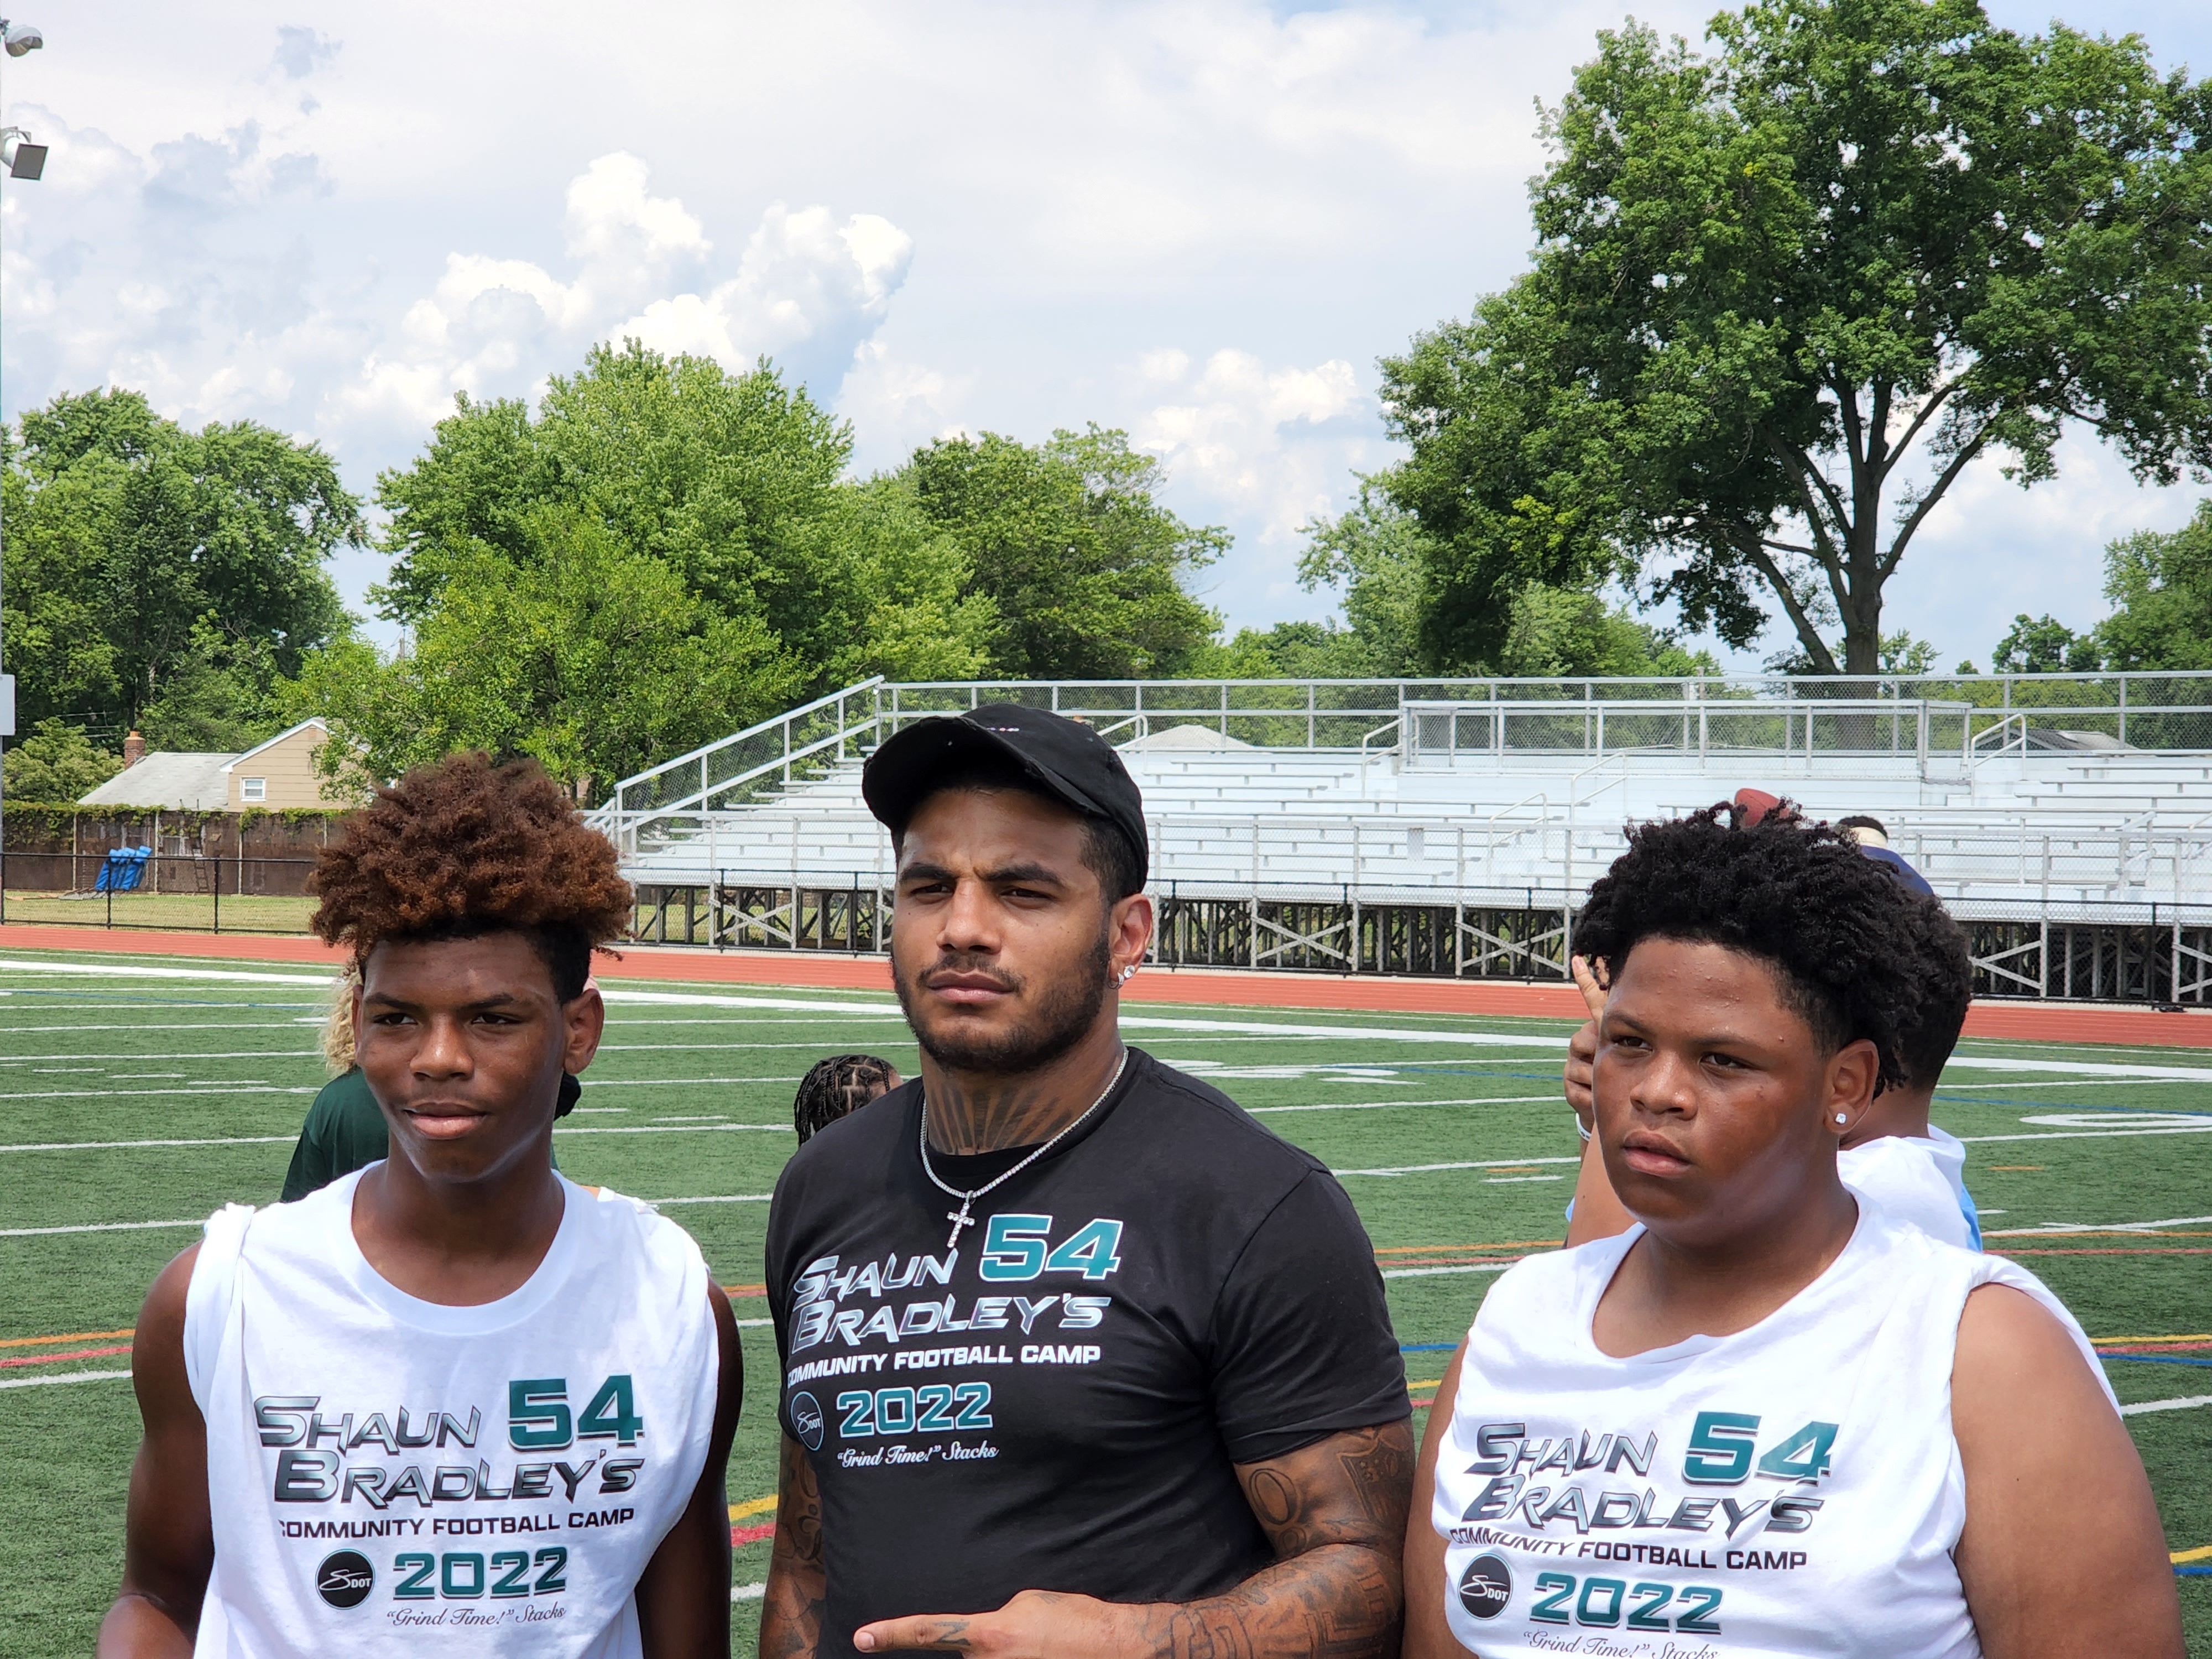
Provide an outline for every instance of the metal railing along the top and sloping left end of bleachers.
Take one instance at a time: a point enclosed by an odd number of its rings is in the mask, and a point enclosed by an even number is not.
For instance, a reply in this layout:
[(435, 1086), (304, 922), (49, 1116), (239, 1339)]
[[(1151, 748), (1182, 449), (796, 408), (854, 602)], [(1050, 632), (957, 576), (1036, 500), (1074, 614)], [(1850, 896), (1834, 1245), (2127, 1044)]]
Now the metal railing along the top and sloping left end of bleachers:
[(2212, 754), (2212, 672), (1690, 679), (867, 679), (615, 785), (593, 814), (626, 858), (980, 703), (1084, 719), (1115, 743), (1177, 728), (1265, 750), (1436, 765), (1478, 757), (1891, 757), (1971, 774), (2051, 748)]

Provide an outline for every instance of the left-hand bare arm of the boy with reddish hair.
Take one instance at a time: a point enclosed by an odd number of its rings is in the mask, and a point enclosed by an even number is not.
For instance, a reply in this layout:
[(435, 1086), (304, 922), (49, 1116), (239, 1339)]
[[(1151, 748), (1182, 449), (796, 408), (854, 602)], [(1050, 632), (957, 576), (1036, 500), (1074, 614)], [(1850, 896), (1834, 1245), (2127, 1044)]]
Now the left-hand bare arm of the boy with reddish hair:
[(197, 1259), (192, 1245), (161, 1270), (131, 1338), (144, 1433), (131, 1462), (124, 1582), (100, 1621), (100, 1659), (190, 1659), (215, 1571), (208, 1425), (184, 1371), (184, 1294)]

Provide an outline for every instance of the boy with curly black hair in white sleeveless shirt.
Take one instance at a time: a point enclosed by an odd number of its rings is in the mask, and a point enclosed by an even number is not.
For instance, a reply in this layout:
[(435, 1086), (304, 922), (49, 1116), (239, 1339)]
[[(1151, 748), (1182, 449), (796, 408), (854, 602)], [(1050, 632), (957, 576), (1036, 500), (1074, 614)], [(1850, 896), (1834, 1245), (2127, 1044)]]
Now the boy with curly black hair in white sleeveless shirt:
[(1838, 1179), (1916, 995), (1867, 973), (1887, 887), (1832, 832), (1699, 814), (1593, 889), (1597, 1144), (1641, 1225), (1484, 1301), (1422, 1447), (1407, 1659), (2179, 1659), (2079, 1327)]

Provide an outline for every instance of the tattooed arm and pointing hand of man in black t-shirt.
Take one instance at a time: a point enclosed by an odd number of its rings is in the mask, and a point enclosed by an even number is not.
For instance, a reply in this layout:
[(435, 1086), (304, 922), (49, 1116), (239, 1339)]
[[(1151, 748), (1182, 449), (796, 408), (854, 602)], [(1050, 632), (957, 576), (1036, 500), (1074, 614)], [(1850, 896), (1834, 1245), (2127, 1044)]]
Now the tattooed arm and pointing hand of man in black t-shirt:
[(1347, 1429), (1237, 1464), (1237, 1480), (1276, 1564), (1228, 1595), (1133, 1606), (1022, 1590), (998, 1613), (869, 1624), (854, 1646), (991, 1659), (1394, 1659), (1413, 1431), (1405, 1422)]

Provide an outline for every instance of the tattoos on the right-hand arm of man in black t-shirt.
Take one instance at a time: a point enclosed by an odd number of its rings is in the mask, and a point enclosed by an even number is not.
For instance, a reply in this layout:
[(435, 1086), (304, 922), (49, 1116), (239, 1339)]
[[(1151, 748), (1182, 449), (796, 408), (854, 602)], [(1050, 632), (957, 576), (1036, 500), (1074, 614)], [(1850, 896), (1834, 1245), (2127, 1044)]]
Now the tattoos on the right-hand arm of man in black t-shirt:
[(1349, 1429), (1243, 1464), (1276, 1564), (1228, 1595), (1150, 1610), (1159, 1659), (1389, 1659), (1405, 1617), (1400, 1551), (1413, 1493), (1405, 1422)]

